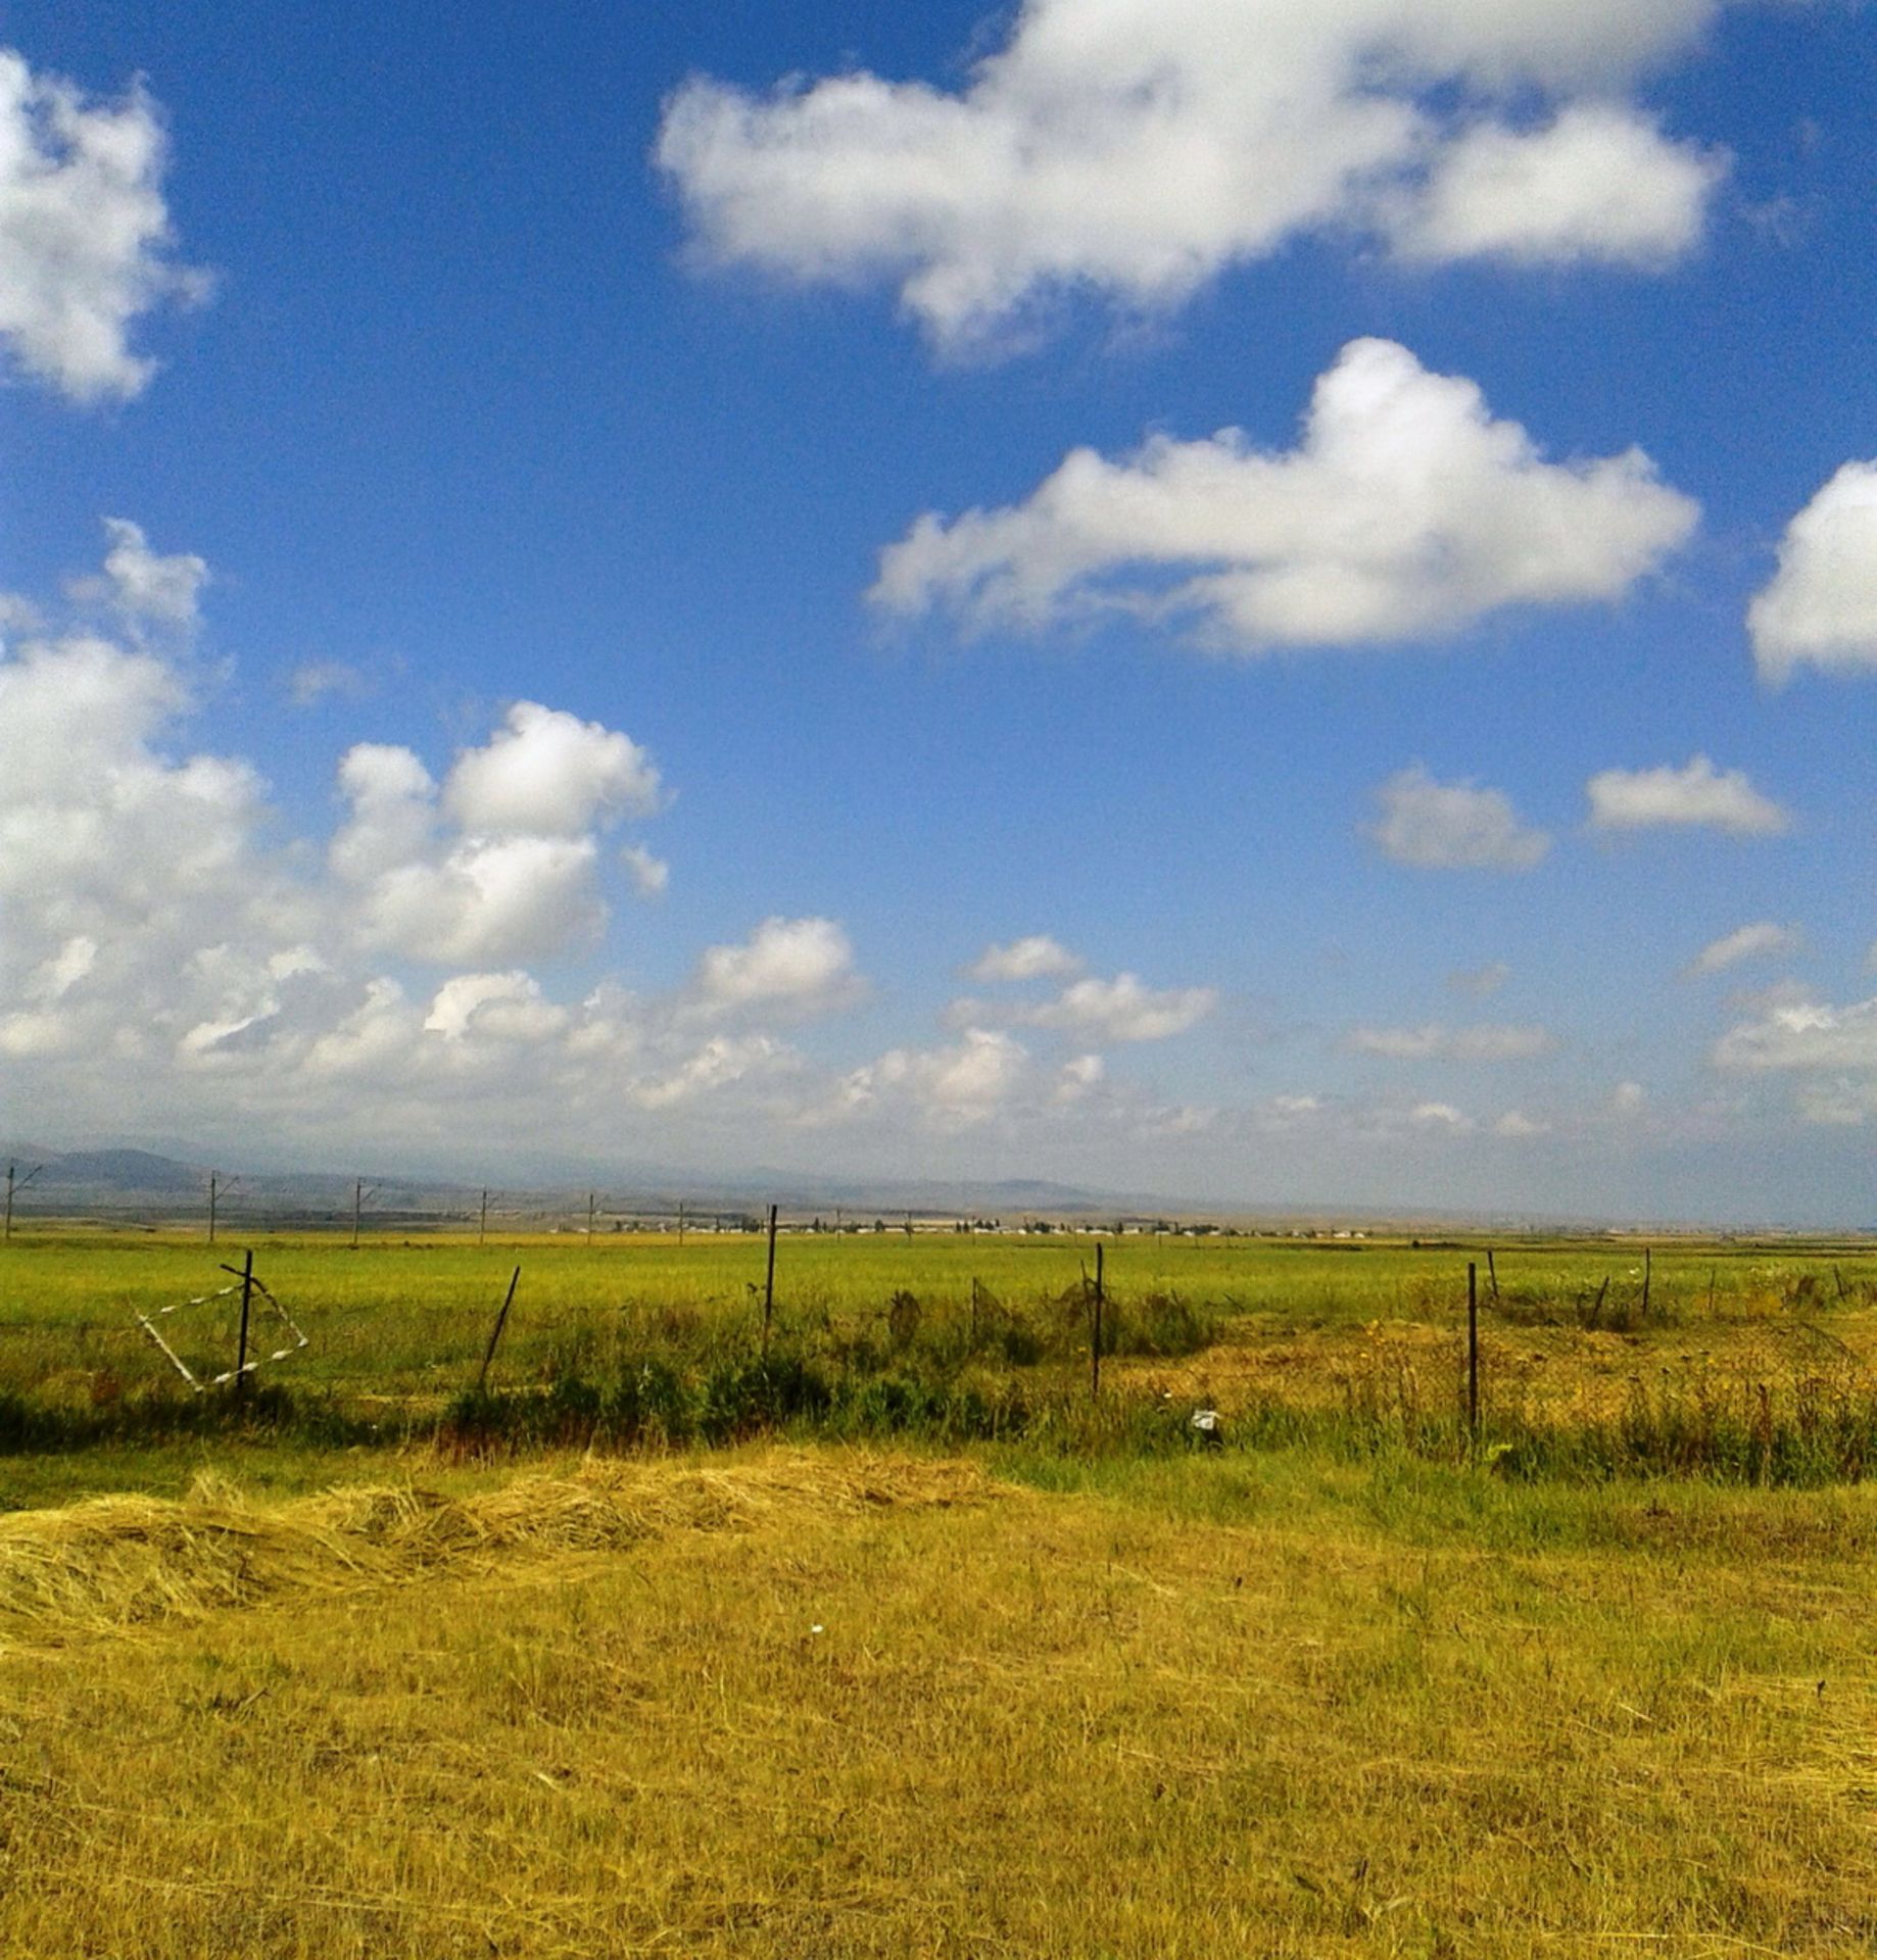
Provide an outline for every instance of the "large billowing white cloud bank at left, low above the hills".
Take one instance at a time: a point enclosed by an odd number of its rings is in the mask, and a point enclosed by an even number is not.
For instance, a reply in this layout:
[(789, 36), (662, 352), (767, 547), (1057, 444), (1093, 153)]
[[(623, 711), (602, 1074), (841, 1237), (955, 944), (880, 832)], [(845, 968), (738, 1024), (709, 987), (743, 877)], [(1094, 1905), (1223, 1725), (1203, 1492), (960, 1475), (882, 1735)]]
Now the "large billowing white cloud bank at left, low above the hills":
[[(339, 760), (324, 853), (277, 845), (259, 774), (178, 747), (204, 580), (118, 523), (73, 594), (118, 637), (20, 610), (27, 637), (0, 653), (0, 1054), (22, 1096), (96, 1127), (222, 1107), (410, 1143), (455, 1137), (467, 1098), (604, 1125), (620, 1103), (759, 1098), (798, 1066), (771, 1035), (700, 1031), (688, 992), (557, 1002), (522, 964), (590, 941), (600, 837), (657, 800), (624, 735), (520, 704), (441, 788), (410, 749), (363, 743)], [(786, 939), (759, 931), (732, 962), (745, 996), (786, 992)], [(380, 955), (445, 972), (420, 986)]]

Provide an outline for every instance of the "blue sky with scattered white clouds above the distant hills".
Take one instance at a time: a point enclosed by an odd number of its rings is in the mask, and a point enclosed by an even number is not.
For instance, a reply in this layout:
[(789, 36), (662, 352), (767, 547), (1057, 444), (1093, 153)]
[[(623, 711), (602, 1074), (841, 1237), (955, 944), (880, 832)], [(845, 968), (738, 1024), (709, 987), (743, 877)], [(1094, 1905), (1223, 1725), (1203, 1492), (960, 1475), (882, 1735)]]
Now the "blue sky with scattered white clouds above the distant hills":
[(1867, 1219), (1869, 31), (6, 6), (0, 1135)]

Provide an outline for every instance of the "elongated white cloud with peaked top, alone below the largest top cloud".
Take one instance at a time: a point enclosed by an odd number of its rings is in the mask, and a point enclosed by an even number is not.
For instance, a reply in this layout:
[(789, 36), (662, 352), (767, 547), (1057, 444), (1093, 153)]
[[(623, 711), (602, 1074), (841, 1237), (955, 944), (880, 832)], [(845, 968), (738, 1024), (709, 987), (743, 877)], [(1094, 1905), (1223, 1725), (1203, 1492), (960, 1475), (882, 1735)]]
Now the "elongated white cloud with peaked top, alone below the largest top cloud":
[(1471, 380), (1367, 339), (1318, 380), (1296, 449), (1224, 429), (1120, 463), (1073, 451), (1024, 504), (920, 517), (871, 598), (971, 627), (1122, 612), (1242, 653), (1412, 641), (1502, 606), (1616, 600), (1695, 521), (1642, 451), (1546, 463)]

